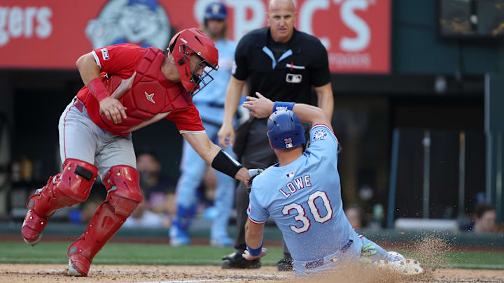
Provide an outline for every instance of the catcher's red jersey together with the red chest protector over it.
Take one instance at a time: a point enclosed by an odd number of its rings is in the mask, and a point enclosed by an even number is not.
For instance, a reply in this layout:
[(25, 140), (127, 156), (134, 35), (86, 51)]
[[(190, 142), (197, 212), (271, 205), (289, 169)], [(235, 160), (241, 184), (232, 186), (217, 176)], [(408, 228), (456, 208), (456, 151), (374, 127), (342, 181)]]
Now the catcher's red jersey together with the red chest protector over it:
[(92, 121), (102, 129), (116, 135), (125, 135), (166, 118), (176, 124), (180, 133), (204, 131), (192, 96), (181, 83), (167, 80), (161, 72), (160, 66), (165, 59), (161, 50), (119, 44), (94, 50), (92, 54), (110, 94), (121, 80), (130, 78), (137, 71), (132, 89), (121, 97), (114, 97), (127, 108), (127, 118), (119, 124), (113, 124), (105, 115), (99, 115), (99, 103), (87, 87), (78, 92), (77, 98), (83, 101)]

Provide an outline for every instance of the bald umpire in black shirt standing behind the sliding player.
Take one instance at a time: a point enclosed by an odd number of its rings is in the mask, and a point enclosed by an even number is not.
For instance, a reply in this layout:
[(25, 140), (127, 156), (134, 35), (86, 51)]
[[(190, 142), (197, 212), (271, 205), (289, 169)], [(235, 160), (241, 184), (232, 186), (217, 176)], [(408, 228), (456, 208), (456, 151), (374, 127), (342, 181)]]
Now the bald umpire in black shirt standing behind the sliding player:
[[(251, 118), (244, 122), (237, 128), (235, 140), (232, 121), (246, 80), (249, 80), (249, 96), (259, 92), (272, 101), (310, 103), (313, 86), (318, 106), (332, 117), (334, 99), (327, 51), (318, 38), (294, 29), (296, 14), (292, 0), (270, 0), (269, 27), (250, 31), (237, 45), (218, 138), (222, 147), (233, 147), (246, 168), (267, 167), (278, 162), (269, 146), (267, 119)], [(259, 268), (259, 259), (246, 261), (241, 256), (246, 249), (244, 226), (248, 208), (248, 195), (241, 183), (236, 191), (236, 207), (235, 252), (223, 259), (222, 268)], [(283, 254), (284, 258), (277, 264), (279, 270), (292, 270), (292, 259), (285, 244)]]

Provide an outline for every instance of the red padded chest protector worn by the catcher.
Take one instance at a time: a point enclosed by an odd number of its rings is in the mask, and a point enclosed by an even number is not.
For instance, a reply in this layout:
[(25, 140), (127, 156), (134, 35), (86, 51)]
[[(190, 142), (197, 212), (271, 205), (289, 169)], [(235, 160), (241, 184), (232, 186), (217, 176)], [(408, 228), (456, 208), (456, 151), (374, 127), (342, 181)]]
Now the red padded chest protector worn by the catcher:
[[(115, 97), (127, 108), (127, 118), (119, 124), (113, 124), (113, 121), (107, 119), (105, 115), (89, 113), (93, 122), (111, 133), (125, 135), (165, 118), (170, 112), (190, 108), (193, 103), (192, 96), (186, 92), (181, 83), (167, 80), (161, 72), (161, 64), (164, 60), (165, 55), (161, 50), (147, 48), (135, 69), (137, 75), (132, 88), (122, 97)], [(111, 75), (109, 79), (104, 77), (103, 80), (107, 91), (112, 94), (123, 78)], [(90, 109), (88, 105), (90, 103), (98, 104), (98, 101), (94, 97), (90, 98), (86, 103), (87, 109)], [(99, 106), (93, 109), (99, 109)]]

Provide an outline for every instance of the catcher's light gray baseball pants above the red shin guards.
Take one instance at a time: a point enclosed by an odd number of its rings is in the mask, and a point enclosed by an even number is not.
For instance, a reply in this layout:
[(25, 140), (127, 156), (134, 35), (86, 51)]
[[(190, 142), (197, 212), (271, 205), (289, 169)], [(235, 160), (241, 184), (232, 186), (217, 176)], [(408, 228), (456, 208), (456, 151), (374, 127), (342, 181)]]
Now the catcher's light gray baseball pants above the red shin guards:
[(59, 155), (94, 164), (102, 178), (112, 166), (137, 168), (132, 135), (116, 136), (92, 122), (83, 103), (77, 98), (66, 106), (58, 124)]

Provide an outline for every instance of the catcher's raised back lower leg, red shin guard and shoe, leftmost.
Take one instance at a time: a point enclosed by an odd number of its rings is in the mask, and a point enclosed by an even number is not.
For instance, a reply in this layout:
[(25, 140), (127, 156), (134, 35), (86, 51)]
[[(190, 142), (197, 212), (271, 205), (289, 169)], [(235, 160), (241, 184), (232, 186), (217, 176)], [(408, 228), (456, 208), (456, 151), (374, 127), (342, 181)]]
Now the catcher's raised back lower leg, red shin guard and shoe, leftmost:
[(28, 212), (21, 228), (25, 242), (29, 245), (38, 243), (53, 212), (85, 201), (96, 177), (94, 165), (66, 159), (62, 173), (51, 176), (47, 184), (28, 199)]

